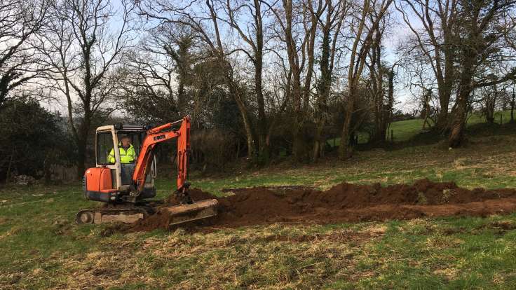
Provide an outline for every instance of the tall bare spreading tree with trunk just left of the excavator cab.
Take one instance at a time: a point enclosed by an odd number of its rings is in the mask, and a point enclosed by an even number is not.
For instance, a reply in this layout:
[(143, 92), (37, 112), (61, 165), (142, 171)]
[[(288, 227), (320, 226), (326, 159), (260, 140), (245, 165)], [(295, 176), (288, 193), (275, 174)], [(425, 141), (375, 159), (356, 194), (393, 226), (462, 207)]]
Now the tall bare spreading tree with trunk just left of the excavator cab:
[(116, 13), (109, 0), (59, 1), (41, 36), (39, 50), (49, 69), (46, 78), (66, 99), (79, 178), (86, 167), (92, 124), (114, 110), (107, 105), (117, 81), (111, 72), (132, 40), (134, 6), (122, 1), (119, 8)]

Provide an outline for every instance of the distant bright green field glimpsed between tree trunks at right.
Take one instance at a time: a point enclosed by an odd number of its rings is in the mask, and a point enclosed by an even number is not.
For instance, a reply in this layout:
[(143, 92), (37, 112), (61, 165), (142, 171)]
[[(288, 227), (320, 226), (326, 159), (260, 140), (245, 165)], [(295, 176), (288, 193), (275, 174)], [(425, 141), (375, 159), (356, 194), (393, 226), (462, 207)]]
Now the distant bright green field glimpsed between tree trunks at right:
[[(500, 115), (502, 116), (502, 123), (508, 123), (510, 120), (510, 111), (500, 111), (494, 114), (494, 122), (500, 123)], [(468, 125), (474, 125), (478, 123), (484, 123), (486, 120), (484, 116), (480, 113), (473, 113), (468, 116)], [(423, 128), (423, 120), (422, 119), (413, 119), (413, 120), (401, 120), (391, 123), (391, 127), (389, 127), (388, 132), (388, 140), (391, 140), (391, 133), (394, 136), (395, 142), (400, 141), (408, 141), (412, 137), (416, 136), (416, 134), (421, 132)], [(365, 144), (369, 139), (369, 134), (367, 132), (359, 132), (358, 134), (358, 143)], [(339, 146), (340, 138), (329, 139), (327, 142), (330, 146)]]

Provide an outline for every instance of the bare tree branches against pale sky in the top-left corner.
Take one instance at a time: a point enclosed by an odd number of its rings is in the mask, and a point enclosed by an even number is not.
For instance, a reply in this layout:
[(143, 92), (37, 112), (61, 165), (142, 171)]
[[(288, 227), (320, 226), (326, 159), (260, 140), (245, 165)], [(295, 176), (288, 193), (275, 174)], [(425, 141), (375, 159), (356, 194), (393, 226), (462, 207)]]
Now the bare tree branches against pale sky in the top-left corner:
[(0, 1), (0, 106), (10, 92), (41, 73), (32, 41), (47, 12), (46, 0)]

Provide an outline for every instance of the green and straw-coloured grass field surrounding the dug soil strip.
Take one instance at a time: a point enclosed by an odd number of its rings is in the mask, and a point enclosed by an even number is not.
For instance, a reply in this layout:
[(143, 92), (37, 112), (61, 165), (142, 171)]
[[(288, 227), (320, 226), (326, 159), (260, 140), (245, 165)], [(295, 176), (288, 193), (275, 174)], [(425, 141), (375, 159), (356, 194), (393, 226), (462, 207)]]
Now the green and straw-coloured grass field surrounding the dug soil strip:
[[(468, 188), (516, 187), (516, 134), (358, 152), (350, 160), (267, 168), (226, 178), (223, 188), (410, 183), (428, 178)], [(160, 179), (159, 197), (172, 182)], [(79, 184), (0, 189), (0, 289), (515, 289), (516, 214), (332, 225), (217, 228), (210, 233), (111, 233), (76, 226)]]

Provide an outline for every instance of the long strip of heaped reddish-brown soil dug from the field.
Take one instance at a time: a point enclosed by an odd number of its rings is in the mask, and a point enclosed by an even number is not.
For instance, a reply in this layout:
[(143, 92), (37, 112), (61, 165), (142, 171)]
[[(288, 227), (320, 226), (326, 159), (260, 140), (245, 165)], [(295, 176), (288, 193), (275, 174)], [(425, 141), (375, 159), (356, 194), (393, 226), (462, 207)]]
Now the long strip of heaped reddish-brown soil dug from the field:
[[(266, 223), (338, 223), (414, 219), (423, 216), (487, 216), (516, 210), (516, 190), (468, 190), (452, 182), (421, 179), (412, 185), (355, 185), (342, 183), (327, 191), (299, 186), (254, 187), (231, 190), (217, 198), (191, 189), (194, 200), (216, 198), (218, 215), (191, 226), (229, 227)], [(171, 196), (165, 205), (175, 205)], [(158, 212), (130, 226), (130, 231), (168, 228), (170, 217)]]

